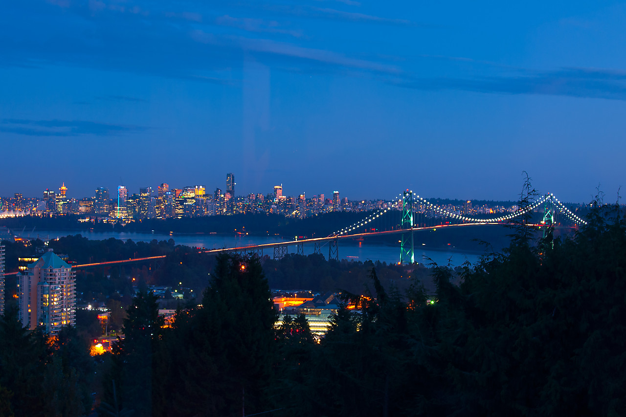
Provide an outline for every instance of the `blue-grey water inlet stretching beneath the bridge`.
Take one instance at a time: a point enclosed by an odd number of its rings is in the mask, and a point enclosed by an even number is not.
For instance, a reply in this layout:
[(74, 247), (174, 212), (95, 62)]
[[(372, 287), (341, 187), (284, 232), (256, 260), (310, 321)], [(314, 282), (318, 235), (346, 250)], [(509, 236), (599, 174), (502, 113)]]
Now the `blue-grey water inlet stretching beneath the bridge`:
[[(111, 237), (120, 240), (131, 239), (134, 242), (150, 242), (156, 240), (173, 239), (177, 245), (190, 247), (204, 247), (207, 249), (221, 249), (223, 247), (242, 247), (247, 245), (270, 244), (275, 242), (285, 242), (293, 239), (283, 239), (280, 236), (251, 236), (235, 234), (150, 234), (150, 233), (129, 233), (129, 232), (93, 232), (85, 230), (83, 232), (67, 232), (61, 230), (24, 232), (23, 237), (39, 238), (41, 240), (56, 239), (67, 235), (81, 234), (91, 240), (105, 240)], [(304, 244), (304, 254), (309, 255), (314, 252), (314, 244)], [(288, 253), (297, 252), (296, 246), (289, 246)], [(321, 248), (321, 253), (328, 258), (329, 244), (326, 243)], [(264, 249), (264, 255), (274, 255), (272, 249)], [(372, 260), (376, 262), (395, 263), (400, 258), (400, 245), (384, 245), (380, 243), (368, 244), (365, 242), (352, 242), (339, 240), (339, 258), (347, 260)], [(479, 255), (464, 252), (453, 252), (444, 250), (431, 250), (428, 247), (419, 245), (415, 247), (415, 260), (419, 263), (429, 264), (436, 262), (439, 265), (447, 265), (450, 262), (454, 266), (462, 265), (469, 260), (472, 264), (478, 261)]]

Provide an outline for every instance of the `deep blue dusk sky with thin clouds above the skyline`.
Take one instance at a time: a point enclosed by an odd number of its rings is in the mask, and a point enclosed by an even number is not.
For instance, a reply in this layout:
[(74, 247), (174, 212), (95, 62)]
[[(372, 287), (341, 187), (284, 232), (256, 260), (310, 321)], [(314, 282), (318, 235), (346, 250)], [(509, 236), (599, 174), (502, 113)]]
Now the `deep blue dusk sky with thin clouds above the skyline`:
[(0, 195), (205, 185), (615, 201), (626, 4), (19, 0), (0, 13)]

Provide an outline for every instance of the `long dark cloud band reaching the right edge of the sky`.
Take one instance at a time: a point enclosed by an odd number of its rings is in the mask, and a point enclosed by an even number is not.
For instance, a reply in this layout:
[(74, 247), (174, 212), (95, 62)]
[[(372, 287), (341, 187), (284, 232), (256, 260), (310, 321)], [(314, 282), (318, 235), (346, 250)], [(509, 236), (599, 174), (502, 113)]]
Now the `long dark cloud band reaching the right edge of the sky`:
[(523, 71), (483, 78), (415, 78), (394, 84), (418, 90), (462, 90), (478, 93), (555, 95), (626, 100), (626, 72), (595, 68)]

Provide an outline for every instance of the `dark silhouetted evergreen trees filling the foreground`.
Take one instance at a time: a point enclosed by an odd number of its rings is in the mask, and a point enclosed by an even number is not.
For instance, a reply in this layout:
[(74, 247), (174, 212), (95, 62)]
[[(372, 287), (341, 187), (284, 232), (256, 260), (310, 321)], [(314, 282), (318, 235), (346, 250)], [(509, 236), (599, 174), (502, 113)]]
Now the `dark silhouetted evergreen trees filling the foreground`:
[[(626, 219), (618, 207), (604, 206), (588, 220), (572, 239), (548, 234), (534, 242), (520, 228), (501, 254), (457, 271), (436, 267), (434, 304), (426, 302), (431, 297), (418, 274), (401, 291), (397, 277), (381, 279), (382, 270), (393, 267), (362, 264), (371, 297), (344, 292), (361, 308), (340, 309), (319, 343), (302, 316), (274, 327), (259, 259), (223, 255), (202, 307), (181, 308), (171, 327), (162, 327), (156, 297), (133, 299), (123, 322), (126, 337), (98, 371), (98, 413), (622, 415)], [(315, 257), (284, 262), (285, 270), (310, 262), (304, 267), (325, 274)], [(54, 406), (69, 410), (54, 415), (80, 415), (80, 401), (57, 399), (59, 389), (40, 393), (39, 378), (13, 372), (54, 371), (69, 392), (72, 375), (80, 379), (86, 368), (64, 366), (36, 332), (22, 331), (23, 342), (13, 342), (20, 333), (11, 314), (1, 329), (0, 410), (51, 415), (40, 407)], [(29, 349), (37, 353), (20, 356)]]

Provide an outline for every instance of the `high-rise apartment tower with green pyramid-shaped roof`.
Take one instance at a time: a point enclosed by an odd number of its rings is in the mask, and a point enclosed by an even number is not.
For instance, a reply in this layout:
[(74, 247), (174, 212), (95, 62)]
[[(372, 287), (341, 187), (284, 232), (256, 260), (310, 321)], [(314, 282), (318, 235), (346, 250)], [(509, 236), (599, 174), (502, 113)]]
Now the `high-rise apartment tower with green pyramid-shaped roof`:
[(18, 318), (24, 327), (55, 334), (76, 324), (76, 271), (52, 249), (18, 274)]

